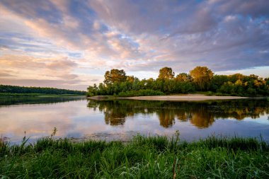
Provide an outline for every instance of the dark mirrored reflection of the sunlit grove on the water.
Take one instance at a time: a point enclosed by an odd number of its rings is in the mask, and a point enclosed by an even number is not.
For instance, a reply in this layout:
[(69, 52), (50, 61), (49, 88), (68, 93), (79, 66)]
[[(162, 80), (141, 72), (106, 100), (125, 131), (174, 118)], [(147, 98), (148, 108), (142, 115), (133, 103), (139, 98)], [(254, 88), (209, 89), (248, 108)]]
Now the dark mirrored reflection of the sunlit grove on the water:
[(105, 124), (124, 125), (127, 117), (156, 114), (159, 124), (172, 127), (175, 120), (190, 122), (200, 129), (217, 119), (256, 119), (269, 114), (268, 100), (217, 100), (205, 102), (171, 102), (146, 100), (88, 100), (88, 108), (103, 112)]

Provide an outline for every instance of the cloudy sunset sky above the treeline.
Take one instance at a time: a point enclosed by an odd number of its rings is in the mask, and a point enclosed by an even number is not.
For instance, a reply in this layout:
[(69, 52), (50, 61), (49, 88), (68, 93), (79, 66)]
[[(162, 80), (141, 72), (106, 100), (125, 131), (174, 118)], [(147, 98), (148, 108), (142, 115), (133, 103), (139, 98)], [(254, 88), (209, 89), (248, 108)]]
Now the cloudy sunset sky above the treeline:
[(269, 77), (268, 0), (0, 0), (0, 83), (86, 90), (105, 71)]

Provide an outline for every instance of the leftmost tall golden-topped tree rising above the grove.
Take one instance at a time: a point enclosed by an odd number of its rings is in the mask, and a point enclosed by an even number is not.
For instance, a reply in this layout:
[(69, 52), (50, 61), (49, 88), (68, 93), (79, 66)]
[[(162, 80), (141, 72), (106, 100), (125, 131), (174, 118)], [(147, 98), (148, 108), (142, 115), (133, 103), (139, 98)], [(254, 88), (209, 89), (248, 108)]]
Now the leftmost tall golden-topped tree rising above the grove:
[(105, 80), (103, 81), (106, 85), (113, 84), (115, 82), (126, 81), (127, 76), (123, 69), (111, 69), (110, 71), (105, 71)]

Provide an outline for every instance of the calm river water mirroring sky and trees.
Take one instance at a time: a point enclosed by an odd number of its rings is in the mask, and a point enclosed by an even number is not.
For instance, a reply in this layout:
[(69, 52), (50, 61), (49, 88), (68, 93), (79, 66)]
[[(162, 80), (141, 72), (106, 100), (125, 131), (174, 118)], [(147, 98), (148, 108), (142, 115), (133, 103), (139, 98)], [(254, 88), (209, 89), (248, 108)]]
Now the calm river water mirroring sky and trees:
[(49, 136), (74, 140), (172, 135), (191, 141), (209, 135), (263, 137), (269, 142), (268, 100), (167, 102), (86, 98), (0, 98), (0, 138), (30, 142)]

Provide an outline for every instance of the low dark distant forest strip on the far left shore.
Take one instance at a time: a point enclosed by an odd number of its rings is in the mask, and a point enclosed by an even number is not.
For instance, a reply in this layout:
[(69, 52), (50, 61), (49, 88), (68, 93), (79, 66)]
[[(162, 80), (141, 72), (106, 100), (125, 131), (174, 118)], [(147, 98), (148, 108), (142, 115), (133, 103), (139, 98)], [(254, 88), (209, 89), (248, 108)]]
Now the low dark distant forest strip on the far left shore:
[(24, 87), (24, 86), (10, 86), (0, 85), (0, 93), (40, 93), (40, 94), (73, 94), (86, 95), (86, 91), (74, 91), (59, 88), (42, 88), (42, 87)]

